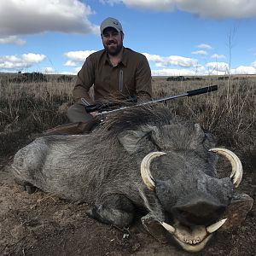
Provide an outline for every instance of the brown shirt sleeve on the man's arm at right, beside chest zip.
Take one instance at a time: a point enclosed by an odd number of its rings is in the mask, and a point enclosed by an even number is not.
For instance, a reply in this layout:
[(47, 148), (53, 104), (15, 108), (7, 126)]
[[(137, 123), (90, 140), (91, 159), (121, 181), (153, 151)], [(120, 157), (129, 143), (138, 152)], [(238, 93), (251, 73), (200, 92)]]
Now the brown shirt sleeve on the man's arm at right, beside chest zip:
[(136, 74), (137, 102), (148, 102), (152, 99), (151, 70), (147, 58), (143, 55)]

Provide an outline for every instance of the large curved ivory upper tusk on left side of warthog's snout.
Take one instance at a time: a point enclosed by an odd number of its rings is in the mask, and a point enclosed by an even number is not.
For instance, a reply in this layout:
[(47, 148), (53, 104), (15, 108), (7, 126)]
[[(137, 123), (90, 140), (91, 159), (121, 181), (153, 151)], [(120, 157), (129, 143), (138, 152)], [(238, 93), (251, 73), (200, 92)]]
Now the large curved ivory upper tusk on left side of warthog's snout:
[(143, 178), (143, 182), (147, 186), (148, 189), (154, 190), (154, 179), (150, 173), (150, 163), (154, 158), (164, 155), (164, 152), (151, 152), (147, 154), (141, 163), (141, 175)]

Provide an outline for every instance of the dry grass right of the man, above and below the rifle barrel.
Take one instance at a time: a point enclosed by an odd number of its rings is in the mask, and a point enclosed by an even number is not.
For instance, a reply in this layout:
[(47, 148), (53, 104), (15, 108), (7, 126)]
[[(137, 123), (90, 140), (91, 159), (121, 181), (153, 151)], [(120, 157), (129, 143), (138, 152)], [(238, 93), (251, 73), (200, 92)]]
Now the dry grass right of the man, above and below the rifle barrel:
[[(172, 82), (173, 83), (173, 82)], [(242, 151), (255, 148), (256, 79), (217, 81), (186, 81), (157, 84), (157, 96), (176, 95), (183, 91), (218, 84), (218, 92), (177, 99), (168, 103), (170, 108), (201, 124), (218, 137), (219, 143)], [(162, 86), (163, 85), (163, 86)]]

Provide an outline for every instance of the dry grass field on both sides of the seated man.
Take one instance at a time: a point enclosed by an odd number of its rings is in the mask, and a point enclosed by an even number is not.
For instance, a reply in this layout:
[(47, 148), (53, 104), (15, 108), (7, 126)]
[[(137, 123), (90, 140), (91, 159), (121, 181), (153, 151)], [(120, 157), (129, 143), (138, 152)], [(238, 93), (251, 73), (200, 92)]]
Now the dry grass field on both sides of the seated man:
[[(219, 81), (166, 81), (154, 78), (154, 98), (181, 94), (218, 84), (218, 92), (185, 97), (166, 103), (173, 111), (200, 123), (218, 137), (218, 143), (239, 149), (255, 150), (256, 79)], [(14, 154), (32, 133), (40, 133), (67, 122), (67, 105), (72, 102), (73, 82), (15, 84), (0, 77), (0, 157)], [(2, 152), (1, 152), (2, 151)]]

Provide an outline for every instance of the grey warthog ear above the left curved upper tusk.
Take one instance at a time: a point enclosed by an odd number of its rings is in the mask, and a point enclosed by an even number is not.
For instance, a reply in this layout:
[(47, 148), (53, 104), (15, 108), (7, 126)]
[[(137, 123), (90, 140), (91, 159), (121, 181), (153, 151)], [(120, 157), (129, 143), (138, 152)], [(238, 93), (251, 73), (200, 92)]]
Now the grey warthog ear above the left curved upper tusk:
[(154, 126), (145, 126), (139, 131), (124, 131), (119, 134), (119, 143), (125, 148), (129, 154), (134, 154), (139, 151), (153, 151), (155, 145), (152, 142), (152, 131), (157, 129)]

